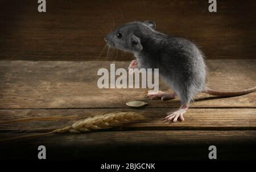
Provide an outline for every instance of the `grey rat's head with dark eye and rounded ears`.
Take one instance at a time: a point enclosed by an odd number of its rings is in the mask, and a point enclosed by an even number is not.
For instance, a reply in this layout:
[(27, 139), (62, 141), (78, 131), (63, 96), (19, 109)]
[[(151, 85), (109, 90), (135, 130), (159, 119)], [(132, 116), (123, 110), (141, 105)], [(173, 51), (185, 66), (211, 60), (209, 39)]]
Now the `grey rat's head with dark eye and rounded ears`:
[(155, 29), (154, 21), (131, 22), (116, 28), (105, 37), (105, 41), (113, 48), (139, 53), (143, 46), (139, 32), (151, 32)]

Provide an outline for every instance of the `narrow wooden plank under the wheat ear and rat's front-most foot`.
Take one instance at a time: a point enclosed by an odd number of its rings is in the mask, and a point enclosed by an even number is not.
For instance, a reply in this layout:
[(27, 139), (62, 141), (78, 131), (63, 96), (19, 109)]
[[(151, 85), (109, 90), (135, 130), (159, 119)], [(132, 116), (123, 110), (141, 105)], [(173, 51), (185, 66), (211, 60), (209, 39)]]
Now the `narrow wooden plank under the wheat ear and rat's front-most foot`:
[(184, 122), (164, 123), (167, 111), (175, 109), (29, 109), (0, 110), (0, 122), (20, 118), (52, 117), (73, 118), (54, 121), (29, 121), (0, 124), (2, 132), (47, 132), (69, 126), (79, 119), (93, 117), (102, 112), (135, 111), (146, 117), (144, 121), (115, 127), (112, 131), (130, 130), (256, 130), (256, 109), (189, 109)]

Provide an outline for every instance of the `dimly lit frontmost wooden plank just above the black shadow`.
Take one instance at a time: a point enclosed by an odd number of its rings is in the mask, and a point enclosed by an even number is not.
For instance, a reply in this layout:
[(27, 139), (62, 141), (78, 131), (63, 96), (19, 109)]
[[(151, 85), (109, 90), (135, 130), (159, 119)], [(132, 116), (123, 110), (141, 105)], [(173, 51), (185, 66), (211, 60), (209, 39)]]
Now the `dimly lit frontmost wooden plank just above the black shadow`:
[[(3, 135), (3, 134), (1, 134)], [(6, 134), (4, 134), (6, 135)], [(13, 134), (16, 135), (16, 134)], [(102, 137), (105, 135), (105, 137)], [(69, 139), (65, 139), (69, 138)], [(61, 141), (60, 139), (66, 140)], [(46, 141), (48, 144), (69, 145), (69, 144), (82, 144), (86, 145), (123, 145), (123, 144), (168, 144), (168, 145), (184, 145), (184, 144), (199, 144), (207, 141), (229, 143), (242, 142), (246, 143), (251, 141), (255, 143), (255, 131), (106, 131), (106, 132), (89, 132), (87, 134), (54, 134), (49, 136), (38, 137), (37, 139), (28, 138), (24, 140), (17, 140), (19, 143), (27, 143), (28, 140), (34, 140), (35, 143)], [(59, 141), (58, 141), (59, 140)], [(175, 140), (175, 141), (173, 141)], [(76, 143), (77, 141), (77, 143)], [(190, 143), (188, 143), (188, 141)], [(238, 141), (238, 142), (237, 142)], [(1, 144), (6, 144), (2, 142)]]

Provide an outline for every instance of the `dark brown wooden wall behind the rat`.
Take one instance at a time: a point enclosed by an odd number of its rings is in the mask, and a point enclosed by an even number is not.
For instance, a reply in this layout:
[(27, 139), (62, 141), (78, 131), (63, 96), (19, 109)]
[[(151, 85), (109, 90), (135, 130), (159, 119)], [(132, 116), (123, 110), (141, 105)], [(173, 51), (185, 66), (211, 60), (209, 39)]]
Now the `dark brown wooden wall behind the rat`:
[(0, 1), (0, 59), (94, 60), (113, 22), (134, 20), (154, 20), (158, 31), (189, 38), (208, 59), (255, 58), (256, 1), (217, 1), (216, 13), (208, 0), (47, 0), (46, 13), (37, 2)]

